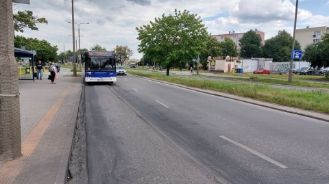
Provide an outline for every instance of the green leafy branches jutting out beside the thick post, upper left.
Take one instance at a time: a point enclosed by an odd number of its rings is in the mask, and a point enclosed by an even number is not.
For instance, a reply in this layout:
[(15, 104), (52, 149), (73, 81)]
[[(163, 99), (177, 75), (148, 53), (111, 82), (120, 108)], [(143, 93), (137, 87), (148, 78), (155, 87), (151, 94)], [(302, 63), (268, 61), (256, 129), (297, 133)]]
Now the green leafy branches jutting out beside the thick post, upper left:
[(45, 23), (48, 24), (46, 18), (38, 18), (38, 16), (33, 16), (32, 11), (25, 10), (24, 12), (17, 12), (14, 14), (14, 30), (24, 32), (23, 29), (28, 27), (32, 30), (38, 30), (36, 27), (37, 23)]

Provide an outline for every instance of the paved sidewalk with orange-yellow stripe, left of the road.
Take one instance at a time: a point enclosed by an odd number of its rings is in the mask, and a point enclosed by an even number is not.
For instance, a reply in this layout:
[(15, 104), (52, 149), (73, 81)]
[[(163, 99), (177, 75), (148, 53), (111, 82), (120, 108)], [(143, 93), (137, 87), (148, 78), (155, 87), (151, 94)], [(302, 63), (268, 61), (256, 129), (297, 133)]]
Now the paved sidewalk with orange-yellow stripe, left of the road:
[[(83, 77), (19, 81), (23, 156), (0, 163), (0, 184), (66, 183)], [(67, 75), (67, 76), (65, 76)]]

